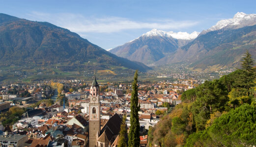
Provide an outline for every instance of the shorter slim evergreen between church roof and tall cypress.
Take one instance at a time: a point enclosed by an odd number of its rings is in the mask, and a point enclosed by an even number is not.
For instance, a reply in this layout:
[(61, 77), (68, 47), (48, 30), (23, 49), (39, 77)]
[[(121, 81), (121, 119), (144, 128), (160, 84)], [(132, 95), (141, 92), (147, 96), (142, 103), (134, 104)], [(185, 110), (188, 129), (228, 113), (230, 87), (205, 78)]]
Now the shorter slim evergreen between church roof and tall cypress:
[(122, 124), (120, 126), (118, 147), (127, 147), (127, 129), (126, 129), (126, 116), (123, 117)]

